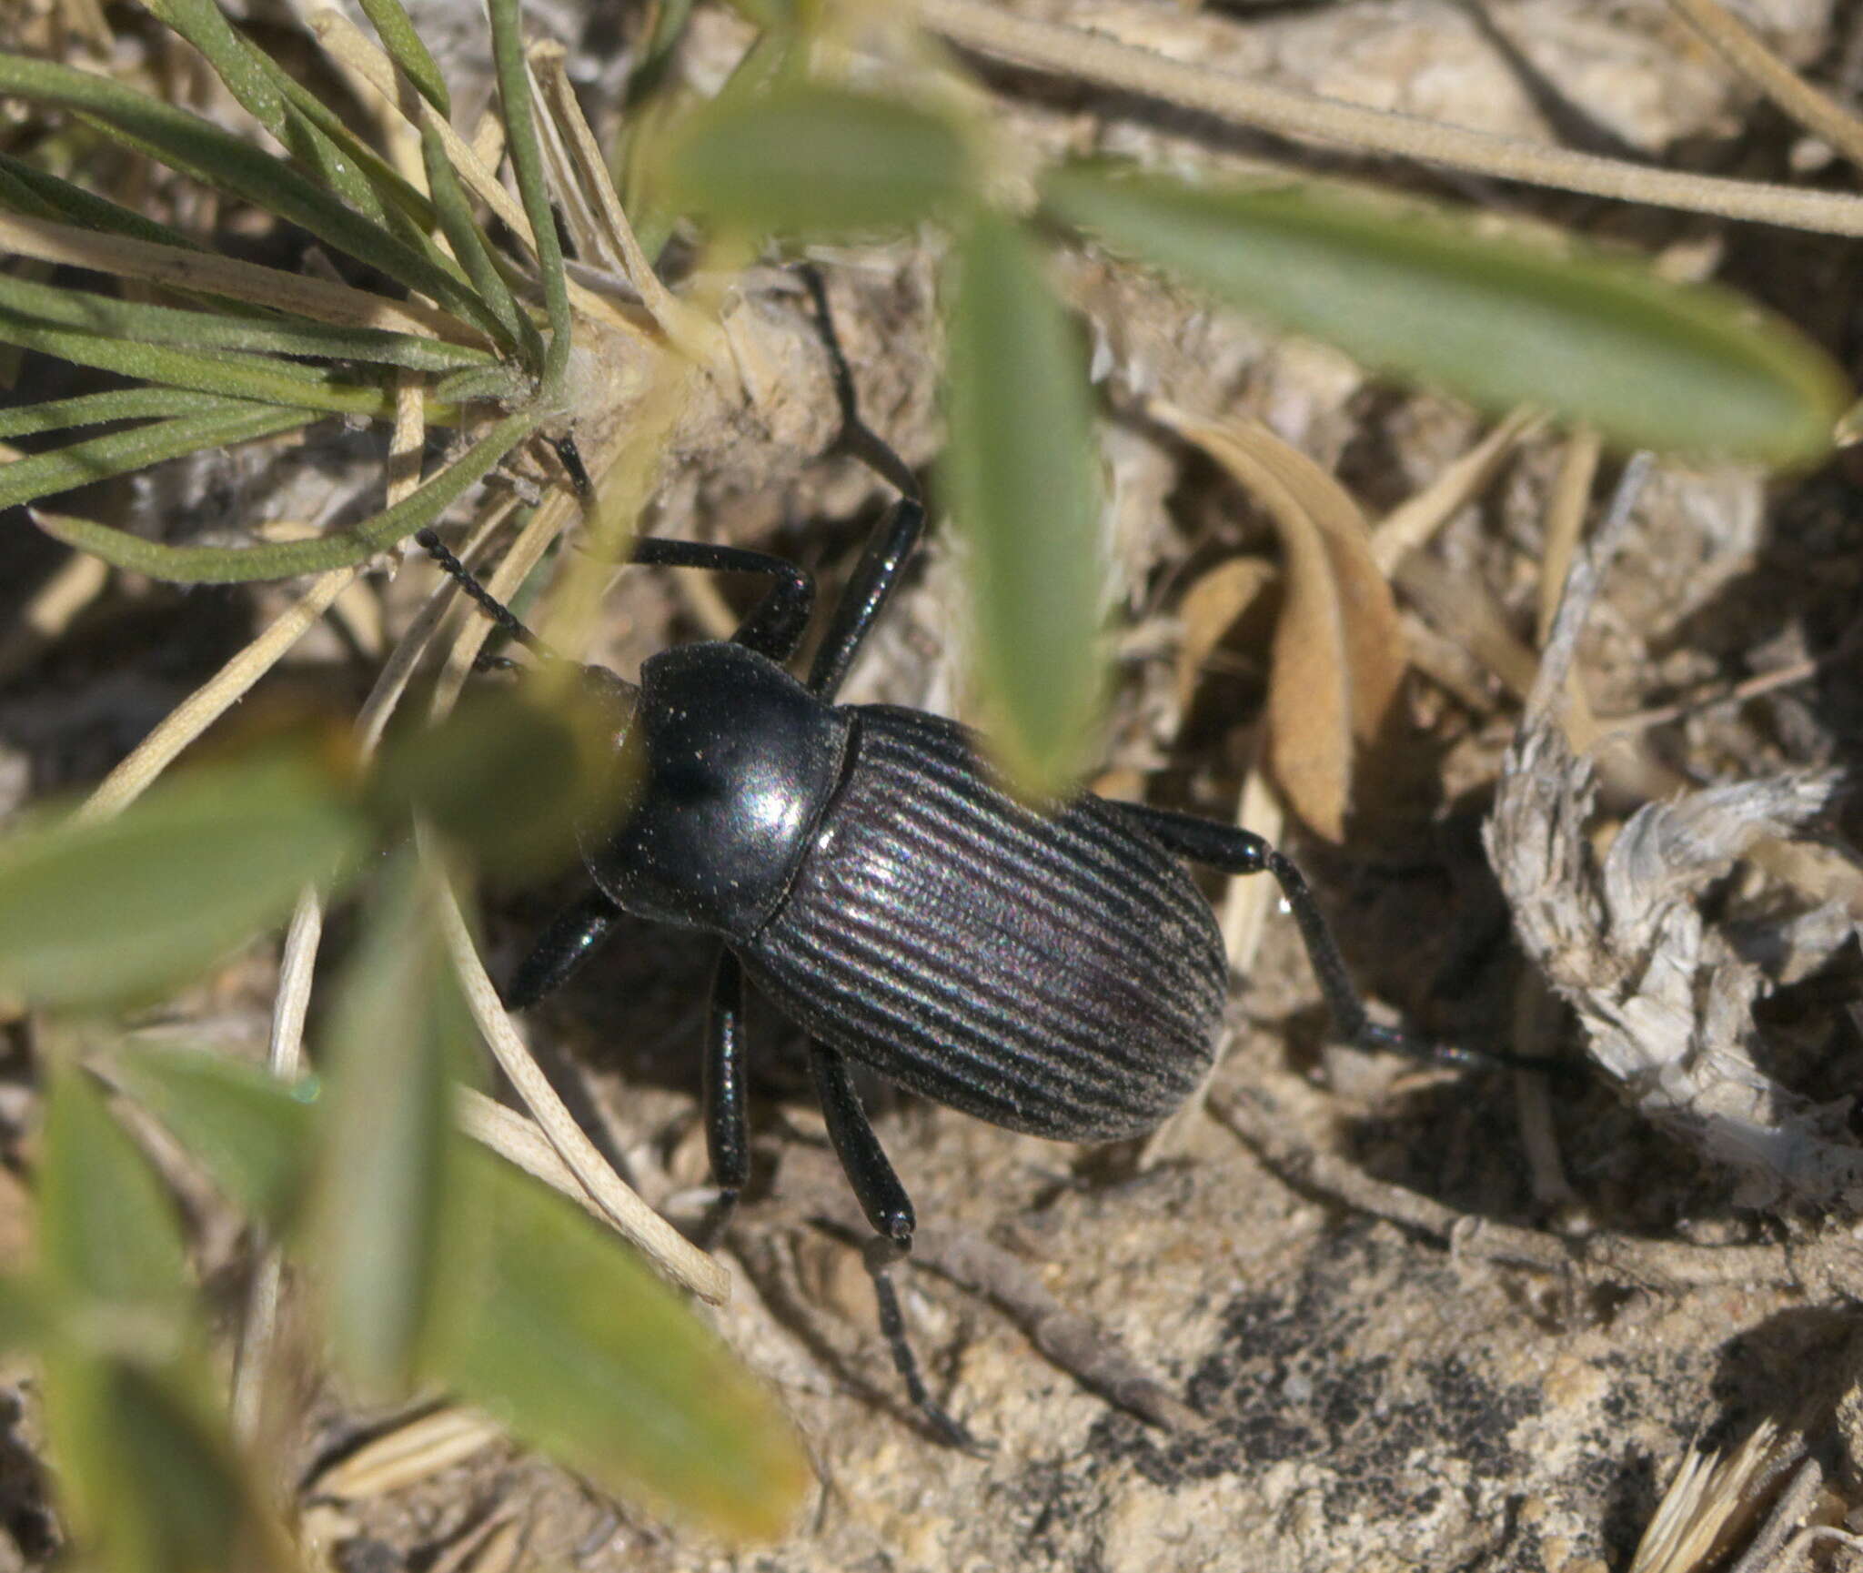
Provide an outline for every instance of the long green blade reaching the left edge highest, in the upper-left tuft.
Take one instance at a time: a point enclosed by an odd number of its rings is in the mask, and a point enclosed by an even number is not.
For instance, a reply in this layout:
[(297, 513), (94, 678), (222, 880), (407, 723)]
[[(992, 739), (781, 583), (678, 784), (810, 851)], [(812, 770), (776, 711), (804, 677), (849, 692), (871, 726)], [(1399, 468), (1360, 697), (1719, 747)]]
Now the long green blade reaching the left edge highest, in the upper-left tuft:
[(408, 289), (430, 294), (481, 330), (496, 330), (497, 319), (490, 308), (473, 294), (438, 246), (423, 242), (417, 250), (388, 233), (382, 224), (347, 209), (285, 160), (240, 142), (199, 116), (84, 71), (11, 54), (0, 54), (0, 93), (84, 114), (151, 158), (276, 212), (333, 250), (380, 268)]

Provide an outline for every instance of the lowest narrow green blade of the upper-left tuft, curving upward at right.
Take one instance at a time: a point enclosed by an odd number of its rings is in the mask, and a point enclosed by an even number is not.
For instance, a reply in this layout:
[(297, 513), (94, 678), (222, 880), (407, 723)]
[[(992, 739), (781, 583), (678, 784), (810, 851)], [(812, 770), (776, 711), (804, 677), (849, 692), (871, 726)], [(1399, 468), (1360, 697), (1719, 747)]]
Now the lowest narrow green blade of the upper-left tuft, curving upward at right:
[[(296, 423), (304, 421), (302, 410), (294, 410), (291, 416)], [(464, 455), (453, 460), (453, 464), (423, 483), (419, 490), (373, 518), (363, 520), (354, 529), (345, 529), (341, 535), (322, 535), (311, 540), (281, 540), (266, 546), (222, 548), (164, 546), (156, 540), (143, 540), (121, 529), (112, 529), (110, 526), (93, 524), (91, 520), (61, 520), (58, 526), (41, 520), (39, 527), (67, 546), (89, 552), (119, 568), (130, 568), (149, 574), (149, 578), (183, 585), (252, 583), (255, 580), (289, 580), (298, 574), (328, 574), (333, 568), (365, 563), (376, 552), (386, 552), (397, 540), (432, 524), (468, 486), (483, 481), (492, 466), (535, 431), (535, 412), (518, 410), (505, 416), (479, 442), (466, 449)], [(110, 438), (99, 438), (99, 442), (110, 442)], [(177, 451), (186, 453), (188, 449)], [(32, 464), (35, 460), (20, 462)], [(20, 464), (13, 464), (0, 470), (0, 505), (7, 501), (6, 486), (13, 470), (19, 468)], [(138, 466), (129, 464), (125, 468), (134, 470)], [(39, 496), (39, 492), (34, 492), (34, 496)], [(17, 498), (15, 501), (24, 499)]]

